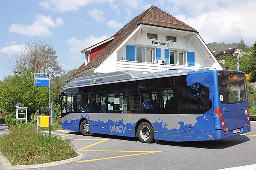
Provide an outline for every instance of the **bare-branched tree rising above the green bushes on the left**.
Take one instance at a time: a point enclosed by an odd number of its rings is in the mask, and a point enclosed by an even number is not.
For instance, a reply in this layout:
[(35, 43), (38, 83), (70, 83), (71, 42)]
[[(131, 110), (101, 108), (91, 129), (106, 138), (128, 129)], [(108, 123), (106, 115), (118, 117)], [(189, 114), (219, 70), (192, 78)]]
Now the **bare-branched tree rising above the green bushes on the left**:
[(23, 48), (15, 54), (14, 72), (29, 69), (32, 74), (48, 73), (51, 77), (64, 74), (64, 69), (57, 61), (58, 56), (53, 46), (45, 39), (27, 41)]

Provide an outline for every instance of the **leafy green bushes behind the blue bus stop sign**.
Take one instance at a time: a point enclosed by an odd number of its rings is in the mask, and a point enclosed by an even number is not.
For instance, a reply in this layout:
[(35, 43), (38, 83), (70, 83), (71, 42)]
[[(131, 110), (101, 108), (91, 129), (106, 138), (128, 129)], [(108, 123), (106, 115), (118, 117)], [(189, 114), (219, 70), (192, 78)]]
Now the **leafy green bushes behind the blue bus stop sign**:
[[(51, 82), (51, 101), (58, 103), (62, 90), (61, 82), (54, 78)], [(48, 107), (48, 87), (35, 87), (34, 77), (29, 69), (14, 73), (0, 81), (0, 108), (15, 112), (15, 103), (28, 107), (28, 113), (35, 113), (40, 108)]]

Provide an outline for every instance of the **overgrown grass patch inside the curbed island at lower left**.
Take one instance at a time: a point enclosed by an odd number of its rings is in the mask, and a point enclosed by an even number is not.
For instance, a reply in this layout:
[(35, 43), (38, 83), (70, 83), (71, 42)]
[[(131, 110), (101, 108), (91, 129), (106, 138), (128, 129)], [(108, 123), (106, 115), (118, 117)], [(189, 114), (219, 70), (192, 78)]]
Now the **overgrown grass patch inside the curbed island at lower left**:
[(36, 134), (33, 127), (12, 127), (0, 137), (2, 153), (12, 165), (42, 164), (77, 156), (69, 142)]

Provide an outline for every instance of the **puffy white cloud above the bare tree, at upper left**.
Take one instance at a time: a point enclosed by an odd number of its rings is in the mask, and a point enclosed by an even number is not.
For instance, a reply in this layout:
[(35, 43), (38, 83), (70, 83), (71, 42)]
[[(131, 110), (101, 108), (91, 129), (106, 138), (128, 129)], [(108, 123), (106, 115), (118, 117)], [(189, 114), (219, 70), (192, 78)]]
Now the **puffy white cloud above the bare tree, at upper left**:
[(35, 15), (35, 18), (32, 24), (26, 26), (23, 24), (12, 24), (9, 27), (9, 31), (31, 36), (52, 36), (52, 32), (49, 28), (59, 27), (64, 24), (61, 18), (56, 18), (55, 21), (53, 21), (49, 15)]

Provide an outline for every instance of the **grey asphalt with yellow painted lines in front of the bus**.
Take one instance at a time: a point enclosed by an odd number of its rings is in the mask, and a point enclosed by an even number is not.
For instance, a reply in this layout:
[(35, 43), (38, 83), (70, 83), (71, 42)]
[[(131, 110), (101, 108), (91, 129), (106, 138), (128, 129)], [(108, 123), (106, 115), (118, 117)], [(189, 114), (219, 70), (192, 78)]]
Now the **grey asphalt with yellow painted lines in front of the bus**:
[(256, 164), (256, 122), (250, 133), (216, 142), (145, 144), (120, 136), (60, 136), (87, 157), (40, 170), (218, 170)]

